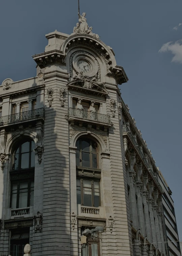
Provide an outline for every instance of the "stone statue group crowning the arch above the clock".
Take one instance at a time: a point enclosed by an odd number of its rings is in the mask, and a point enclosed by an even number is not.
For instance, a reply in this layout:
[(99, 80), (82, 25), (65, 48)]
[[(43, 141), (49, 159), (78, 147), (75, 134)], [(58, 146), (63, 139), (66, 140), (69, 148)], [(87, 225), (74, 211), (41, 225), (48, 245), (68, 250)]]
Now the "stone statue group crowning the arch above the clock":
[(81, 34), (88, 34), (90, 36), (99, 38), (99, 35), (92, 32), (93, 27), (88, 26), (87, 19), (85, 18), (86, 13), (83, 13), (82, 15), (78, 13), (78, 15), (79, 15), (80, 23), (77, 23), (77, 25), (73, 28), (73, 33), (71, 35), (81, 33)]

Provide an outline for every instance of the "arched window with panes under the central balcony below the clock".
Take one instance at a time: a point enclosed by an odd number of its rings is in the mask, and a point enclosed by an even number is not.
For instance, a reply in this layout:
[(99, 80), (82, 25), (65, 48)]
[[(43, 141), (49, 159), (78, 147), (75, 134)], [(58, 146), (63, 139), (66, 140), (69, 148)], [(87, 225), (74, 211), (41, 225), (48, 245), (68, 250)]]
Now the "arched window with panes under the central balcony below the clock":
[(81, 138), (76, 142), (76, 165), (98, 168), (98, 150), (96, 142)]

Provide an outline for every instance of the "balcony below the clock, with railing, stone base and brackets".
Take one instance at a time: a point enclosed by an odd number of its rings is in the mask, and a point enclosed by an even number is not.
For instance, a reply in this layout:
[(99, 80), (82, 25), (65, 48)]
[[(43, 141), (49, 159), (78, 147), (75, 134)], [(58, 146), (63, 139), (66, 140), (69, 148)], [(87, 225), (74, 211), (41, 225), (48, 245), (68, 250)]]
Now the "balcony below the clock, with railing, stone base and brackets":
[(68, 121), (70, 122), (70, 125), (78, 123), (79, 127), (82, 127), (83, 124), (93, 125), (96, 130), (99, 130), (100, 127), (107, 130), (107, 128), (113, 125), (109, 115), (93, 113), (75, 108), (68, 109)]

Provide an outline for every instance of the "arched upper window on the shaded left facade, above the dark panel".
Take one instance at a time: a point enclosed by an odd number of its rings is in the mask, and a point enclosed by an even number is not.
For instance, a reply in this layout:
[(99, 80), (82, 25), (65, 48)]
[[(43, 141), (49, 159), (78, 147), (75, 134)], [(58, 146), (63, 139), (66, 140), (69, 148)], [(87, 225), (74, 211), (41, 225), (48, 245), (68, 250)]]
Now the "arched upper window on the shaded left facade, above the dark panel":
[(13, 153), (13, 170), (35, 167), (35, 143), (26, 141), (19, 144)]

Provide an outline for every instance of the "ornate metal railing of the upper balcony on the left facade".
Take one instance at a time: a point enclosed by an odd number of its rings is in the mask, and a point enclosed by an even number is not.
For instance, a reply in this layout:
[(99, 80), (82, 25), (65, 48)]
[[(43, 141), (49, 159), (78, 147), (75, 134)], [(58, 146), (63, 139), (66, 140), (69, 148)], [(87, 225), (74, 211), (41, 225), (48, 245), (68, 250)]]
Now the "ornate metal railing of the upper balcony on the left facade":
[(22, 113), (2, 116), (0, 118), (0, 126), (16, 123), (20, 121), (30, 120), (38, 116), (40, 117), (45, 116), (44, 108), (38, 108), (34, 110), (25, 111)]

